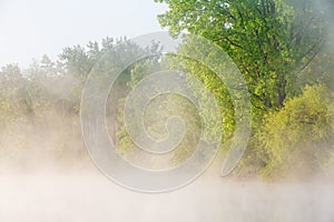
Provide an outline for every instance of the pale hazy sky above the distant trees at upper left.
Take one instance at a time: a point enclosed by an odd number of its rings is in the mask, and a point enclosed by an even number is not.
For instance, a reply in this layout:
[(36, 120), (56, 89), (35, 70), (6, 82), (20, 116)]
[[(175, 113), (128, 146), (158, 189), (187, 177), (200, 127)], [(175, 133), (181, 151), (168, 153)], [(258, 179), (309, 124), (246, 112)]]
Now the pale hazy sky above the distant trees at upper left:
[(67, 46), (159, 31), (154, 0), (0, 0), (0, 65), (27, 67)]

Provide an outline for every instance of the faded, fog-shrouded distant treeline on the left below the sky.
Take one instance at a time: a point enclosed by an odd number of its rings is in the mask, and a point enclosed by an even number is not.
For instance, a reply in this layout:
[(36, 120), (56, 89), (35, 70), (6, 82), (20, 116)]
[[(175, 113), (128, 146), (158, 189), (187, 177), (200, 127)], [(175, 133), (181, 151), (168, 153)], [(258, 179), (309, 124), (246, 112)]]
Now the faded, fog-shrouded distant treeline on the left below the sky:
[[(145, 51), (158, 50), (157, 44), (141, 49), (126, 38), (102, 39), (86, 47), (67, 47), (52, 61), (43, 56), (28, 68), (7, 64), (0, 70), (0, 159), (22, 169), (52, 159), (67, 164), (75, 159), (87, 160), (80, 130), (80, 99), (85, 81), (95, 64), (105, 58), (105, 69), (117, 69)], [(101, 79), (105, 77), (101, 77)], [(110, 101), (118, 101), (127, 90), (130, 69), (117, 81)], [(125, 85), (125, 87), (121, 87)], [(117, 122), (117, 105), (108, 117)], [(117, 123), (110, 124), (115, 138)], [(69, 161), (71, 159), (71, 161)], [(29, 163), (28, 163), (29, 162)], [(41, 167), (40, 164), (39, 167)], [(60, 164), (61, 165), (61, 164)]]

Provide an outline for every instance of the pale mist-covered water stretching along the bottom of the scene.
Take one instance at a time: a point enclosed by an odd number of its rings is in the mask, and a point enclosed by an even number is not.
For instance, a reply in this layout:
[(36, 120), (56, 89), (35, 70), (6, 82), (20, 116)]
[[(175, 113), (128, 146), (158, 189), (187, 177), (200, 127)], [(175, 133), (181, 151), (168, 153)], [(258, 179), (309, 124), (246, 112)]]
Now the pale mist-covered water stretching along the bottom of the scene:
[(333, 183), (262, 183), (203, 175), (173, 192), (121, 188), (97, 170), (2, 173), (0, 221), (331, 222)]

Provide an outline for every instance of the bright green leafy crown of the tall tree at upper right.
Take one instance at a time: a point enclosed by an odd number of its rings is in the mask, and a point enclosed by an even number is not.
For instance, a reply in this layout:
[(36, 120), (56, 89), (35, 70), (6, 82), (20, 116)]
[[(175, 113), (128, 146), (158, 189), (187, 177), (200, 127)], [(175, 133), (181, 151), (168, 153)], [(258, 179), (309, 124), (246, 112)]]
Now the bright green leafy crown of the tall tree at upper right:
[(281, 108), (298, 91), (297, 74), (325, 42), (327, 22), (311, 0), (155, 1), (168, 4), (158, 19), (171, 34), (200, 34), (229, 54), (248, 84), (255, 113)]

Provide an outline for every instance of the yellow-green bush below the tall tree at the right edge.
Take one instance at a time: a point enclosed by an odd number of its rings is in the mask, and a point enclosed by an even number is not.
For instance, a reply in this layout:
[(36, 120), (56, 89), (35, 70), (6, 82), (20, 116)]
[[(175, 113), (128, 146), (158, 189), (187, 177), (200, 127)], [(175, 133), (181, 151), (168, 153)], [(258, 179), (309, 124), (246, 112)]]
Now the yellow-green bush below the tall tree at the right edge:
[(333, 100), (325, 87), (306, 87), (302, 95), (269, 113), (256, 139), (265, 176), (320, 173), (333, 152)]

